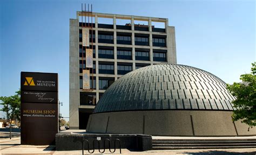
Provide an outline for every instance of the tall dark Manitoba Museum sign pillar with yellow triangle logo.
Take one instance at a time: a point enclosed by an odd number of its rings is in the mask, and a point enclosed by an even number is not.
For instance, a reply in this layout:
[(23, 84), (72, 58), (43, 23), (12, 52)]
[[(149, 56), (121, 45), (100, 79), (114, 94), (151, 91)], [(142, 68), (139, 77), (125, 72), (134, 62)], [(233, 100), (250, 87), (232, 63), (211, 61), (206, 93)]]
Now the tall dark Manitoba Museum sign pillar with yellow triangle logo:
[(21, 72), (21, 144), (52, 145), (58, 133), (58, 74)]

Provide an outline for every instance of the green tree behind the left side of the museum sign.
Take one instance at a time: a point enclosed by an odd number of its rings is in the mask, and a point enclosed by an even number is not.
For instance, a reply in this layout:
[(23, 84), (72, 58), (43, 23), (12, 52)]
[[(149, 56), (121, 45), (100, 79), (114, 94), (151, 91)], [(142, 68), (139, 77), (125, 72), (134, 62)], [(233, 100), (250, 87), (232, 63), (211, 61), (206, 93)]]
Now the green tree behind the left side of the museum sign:
[(18, 120), (21, 119), (21, 90), (16, 91), (14, 96), (1, 96), (0, 103), (3, 105), (1, 111), (6, 113), (6, 118), (8, 123), (11, 124), (12, 120), (17, 118)]

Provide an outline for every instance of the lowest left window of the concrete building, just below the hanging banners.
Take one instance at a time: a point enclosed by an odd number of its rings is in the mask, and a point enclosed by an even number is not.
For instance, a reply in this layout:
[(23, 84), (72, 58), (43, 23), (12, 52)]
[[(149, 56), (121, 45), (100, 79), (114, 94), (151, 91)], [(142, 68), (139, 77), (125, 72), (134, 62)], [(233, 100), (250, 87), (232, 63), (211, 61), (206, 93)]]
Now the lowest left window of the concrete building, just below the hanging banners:
[(96, 93), (80, 92), (80, 105), (96, 105)]

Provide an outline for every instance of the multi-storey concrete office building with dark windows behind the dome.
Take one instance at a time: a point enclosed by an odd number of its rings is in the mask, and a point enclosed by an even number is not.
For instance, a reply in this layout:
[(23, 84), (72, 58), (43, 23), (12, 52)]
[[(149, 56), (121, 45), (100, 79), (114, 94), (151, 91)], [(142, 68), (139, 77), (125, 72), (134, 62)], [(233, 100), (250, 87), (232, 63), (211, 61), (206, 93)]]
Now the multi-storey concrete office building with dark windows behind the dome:
[[(93, 18), (93, 35), (90, 34), (93, 69), (90, 70), (91, 90), (83, 90), (81, 19), (84, 13), (78, 11), (77, 18), (70, 19), (70, 129), (86, 129), (89, 115), (107, 87), (126, 73), (147, 65), (177, 63), (175, 29), (169, 26), (167, 18), (87, 13), (86, 16)], [(100, 23), (99, 18), (113, 22)], [(117, 24), (117, 20), (128, 22)], [(156, 28), (154, 22), (165, 26)]]

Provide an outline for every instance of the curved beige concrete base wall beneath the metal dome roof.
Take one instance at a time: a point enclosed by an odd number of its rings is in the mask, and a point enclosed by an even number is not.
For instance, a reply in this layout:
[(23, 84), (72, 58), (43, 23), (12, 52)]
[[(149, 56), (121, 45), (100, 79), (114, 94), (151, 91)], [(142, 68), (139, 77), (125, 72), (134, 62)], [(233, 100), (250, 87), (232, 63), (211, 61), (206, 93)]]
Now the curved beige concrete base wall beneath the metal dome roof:
[[(155, 136), (244, 136), (256, 128), (232, 122), (232, 111), (124, 111), (91, 114), (86, 131)], [(237, 131), (236, 131), (237, 130)]]

